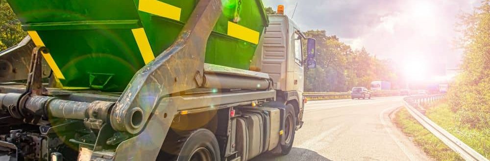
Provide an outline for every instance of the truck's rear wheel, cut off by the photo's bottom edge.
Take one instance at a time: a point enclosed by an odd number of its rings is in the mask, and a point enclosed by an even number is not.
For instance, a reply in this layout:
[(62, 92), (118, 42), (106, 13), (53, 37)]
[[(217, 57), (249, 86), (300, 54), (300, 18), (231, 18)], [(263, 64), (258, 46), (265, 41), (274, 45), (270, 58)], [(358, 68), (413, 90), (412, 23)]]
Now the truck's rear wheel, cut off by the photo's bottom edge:
[(191, 132), (182, 144), (177, 161), (220, 161), (220, 147), (208, 129)]

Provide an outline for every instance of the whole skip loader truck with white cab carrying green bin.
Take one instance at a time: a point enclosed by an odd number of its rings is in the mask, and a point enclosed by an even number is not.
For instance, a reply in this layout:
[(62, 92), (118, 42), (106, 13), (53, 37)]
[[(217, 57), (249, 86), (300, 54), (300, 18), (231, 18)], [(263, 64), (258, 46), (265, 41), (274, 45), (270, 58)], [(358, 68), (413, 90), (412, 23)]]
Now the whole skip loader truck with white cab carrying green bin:
[(261, 0), (7, 2), (28, 37), (0, 53), (1, 161), (290, 152), (316, 42)]

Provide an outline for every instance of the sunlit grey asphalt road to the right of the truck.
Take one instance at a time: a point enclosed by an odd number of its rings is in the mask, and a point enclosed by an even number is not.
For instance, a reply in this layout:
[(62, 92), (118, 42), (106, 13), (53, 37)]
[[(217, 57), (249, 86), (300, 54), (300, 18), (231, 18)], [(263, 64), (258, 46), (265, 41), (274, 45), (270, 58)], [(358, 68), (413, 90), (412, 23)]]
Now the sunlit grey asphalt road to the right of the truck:
[(430, 161), (390, 120), (402, 97), (309, 101), (286, 156), (253, 161)]

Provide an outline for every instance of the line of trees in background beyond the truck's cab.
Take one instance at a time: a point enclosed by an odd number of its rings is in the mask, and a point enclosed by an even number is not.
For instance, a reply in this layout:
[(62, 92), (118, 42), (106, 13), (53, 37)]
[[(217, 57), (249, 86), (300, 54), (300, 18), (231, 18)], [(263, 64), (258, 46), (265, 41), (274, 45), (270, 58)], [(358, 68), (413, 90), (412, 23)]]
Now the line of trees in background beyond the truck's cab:
[[(269, 15), (276, 14), (266, 8)], [(393, 68), (390, 60), (380, 60), (366, 48), (352, 49), (335, 35), (327, 35), (325, 30), (309, 30), (307, 37), (317, 40), (317, 67), (305, 69), (306, 92), (346, 92), (352, 87), (370, 87), (371, 81), (392, 82), (392, 88), (404, 87), (404, 81)]]

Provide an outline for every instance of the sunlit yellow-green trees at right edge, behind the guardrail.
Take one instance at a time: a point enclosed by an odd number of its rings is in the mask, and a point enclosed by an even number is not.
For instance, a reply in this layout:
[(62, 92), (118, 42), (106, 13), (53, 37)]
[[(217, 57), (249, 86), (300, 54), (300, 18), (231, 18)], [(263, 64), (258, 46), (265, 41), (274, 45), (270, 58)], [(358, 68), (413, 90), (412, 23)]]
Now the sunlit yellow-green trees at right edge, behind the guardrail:
[(490, 0), (462, 15), (460, 26), (462, 71), (450, 84), (448, 101), (464, 124), (490, 129)]

